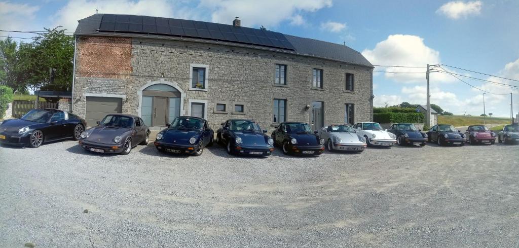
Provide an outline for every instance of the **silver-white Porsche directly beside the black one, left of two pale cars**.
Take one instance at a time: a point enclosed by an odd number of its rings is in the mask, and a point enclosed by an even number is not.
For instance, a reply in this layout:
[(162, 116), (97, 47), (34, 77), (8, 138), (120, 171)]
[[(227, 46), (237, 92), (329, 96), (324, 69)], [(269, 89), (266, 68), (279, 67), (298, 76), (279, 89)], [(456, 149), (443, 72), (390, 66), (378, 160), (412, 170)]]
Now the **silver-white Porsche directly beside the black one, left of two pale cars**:
[(362, 152), (366, 148), (364, 137), (359, 137), (351, 126), (330, 125), (319, 130), (329, 151), (344, 150)]

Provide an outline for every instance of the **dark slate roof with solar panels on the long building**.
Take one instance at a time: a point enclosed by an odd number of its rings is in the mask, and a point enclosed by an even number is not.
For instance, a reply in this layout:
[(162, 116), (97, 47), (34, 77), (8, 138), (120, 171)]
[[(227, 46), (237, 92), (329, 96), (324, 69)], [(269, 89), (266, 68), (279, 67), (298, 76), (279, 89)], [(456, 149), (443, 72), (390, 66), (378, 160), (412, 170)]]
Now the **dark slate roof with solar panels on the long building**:
[[(106, 18), (103, 18), (104, 16), (106, 16)], [(126, 31), (129, 30), (127, 25), (121, 25), (124, 27), (121, 27), (120, 29), (117, 28), (118, 23), (128, 23), (116, 21), (112, 22), (113, 20), (126, 21), (130, 19), (142, 21), (142, 24), (137, 24), (138, 27), (135, 29), (138, 30), (138, 32)], [(154, 24), (147, 24), (147, 22), (150, 21)], [(102, 22), (103, 27), (101, 28)], [(114, 25), (107, 25), (112, 23)], [(166, 24), (163, 23), (169, 23), (169, 25), (166, 26)], [(130, 24), (133, 25), (134, 23), (130, 22)], [(139, 25), (142, 25), (142, 28)], [(189, 27), (187, 27), (187, 25), (189, 25)], [(193, 29), (191, 25), (193, 25), (193, 27), (195, 28)], [(148, 29), (146, 30), (145, 27), (148, 27)], [(213, 30), (211, 29), (218, 29), (219, 31), (215, 31), (214, 33), (216, 34), (213, 35)], [(224, 32), (224, 30), (229, 32)], [(243, 39), (241, 38), (243, 36), (239, 32), (245, 33), (245, 35), (243, 35), (245, 36)], [(247, 34), (247, 32), (249, 32), (250, 35)], [(224, 36), (221, 36), (222, 34)], [(364, 56), (362, 56), (360, 52), (353, 50), (345, 45), (323, 42), (322, 40), (285, 35), (277, 32), (264, 31), (260, 29), (251, 29), (250, 27), (236, 27), (233, 25), (218, 24), (211, 22), (97, 13), (85, 19), (79, 20), (74, 35), (121, 36), (136, 38), (188, 40), (193, 42), (205, 42), (228, 46), (278, 51), (284, 53), (297, 54), (301, 56), (310, 56), (326, 60), (333, 60), (349, 64), (373, 67), (373, 65), (369, 61), (367, 61), (367, 59), (364, 58)], [(254, 36), (260, 39), (255, 39)], [(250, 39), (248, 39), (247, 37), (250, 37)], [(246, 42), (247, 40), (249, 40), (249, 42)], [(255, 41), (253, 42), (252, 40)]]

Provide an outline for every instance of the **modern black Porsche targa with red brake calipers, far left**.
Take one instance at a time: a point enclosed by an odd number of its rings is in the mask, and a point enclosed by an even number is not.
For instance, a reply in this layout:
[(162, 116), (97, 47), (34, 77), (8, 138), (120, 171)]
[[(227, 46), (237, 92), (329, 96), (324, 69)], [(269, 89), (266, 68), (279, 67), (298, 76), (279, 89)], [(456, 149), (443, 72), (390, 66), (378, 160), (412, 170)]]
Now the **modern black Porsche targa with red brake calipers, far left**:
[(45, 142), (78, 140), (87, 122), (59, 109), (33, 109), (19, 119), (0, 121), (0, 143), (39, 147)]

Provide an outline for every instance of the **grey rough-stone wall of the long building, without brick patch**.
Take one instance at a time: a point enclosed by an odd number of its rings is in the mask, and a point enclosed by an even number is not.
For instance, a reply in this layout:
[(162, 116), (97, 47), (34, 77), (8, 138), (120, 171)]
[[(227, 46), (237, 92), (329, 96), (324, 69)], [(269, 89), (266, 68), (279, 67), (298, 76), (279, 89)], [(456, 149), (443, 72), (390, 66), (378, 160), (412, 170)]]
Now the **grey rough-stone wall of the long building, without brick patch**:
[[(83, 39), (80, 39), (80, 42)], [(160, 44), (158, 44), (160, 42)], [(157, 43), (157, 44), (149, 44)], [(232, 46), (134, 38), (129, 78), (91, 77), (76, 74), (74, 113), (85, 117), (86, 95), (116, 94), (124, 98), (122, 112), (138, 114), (137, 92), (149, 82), (163, 80), (185, 92), (181, 115), (188, 115), (189, 100), (207, 100), (212, 128), (230, 118), (256, 120), (272, 130), (274, 99), (286, 99), (287, 120), (310, 121), (311, 101), (324, 102), (324, 123), (344, 123), (345, 104), (354, 104), (354, 121), (372, 120), (372, 69), (312, 57)], [(164, 45), (162, 45), (164, 44)], [(78, 46), (78, 49), (88, 47)], [(86, 54), (88, 51), (80, 52)], [(77, 67), (88, 67), (79, 59)], [(287, 86), (274, 86), (275, 64), (287, 65)], [(208, 66), (208, 90), (189, 90), (190, 64)], [(99, 65), (97, 65), (99, 66)], [(323, 89), (313, 89), (312, 68), (323, 70)], [(161, 78), (162, 73), (164, 75)], [(345, 90), (346, 73), (354, 74), (354, 92)], [(215, 103), (227, 103), (226, 113), (214, 113)], [(233, 103), (245, 103), (244, 114), (233, 114)]]

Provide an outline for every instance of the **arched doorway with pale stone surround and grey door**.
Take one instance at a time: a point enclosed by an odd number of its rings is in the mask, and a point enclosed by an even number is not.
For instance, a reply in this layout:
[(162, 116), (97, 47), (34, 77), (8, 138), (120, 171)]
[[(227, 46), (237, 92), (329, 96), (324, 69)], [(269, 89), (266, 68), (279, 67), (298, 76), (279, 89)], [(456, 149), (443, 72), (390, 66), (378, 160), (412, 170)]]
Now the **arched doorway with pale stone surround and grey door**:
[(139, 116), (147, 126), (164, 127), (183, 114), (184, 92), (173, 82), (148, 81), (138, 94)]

